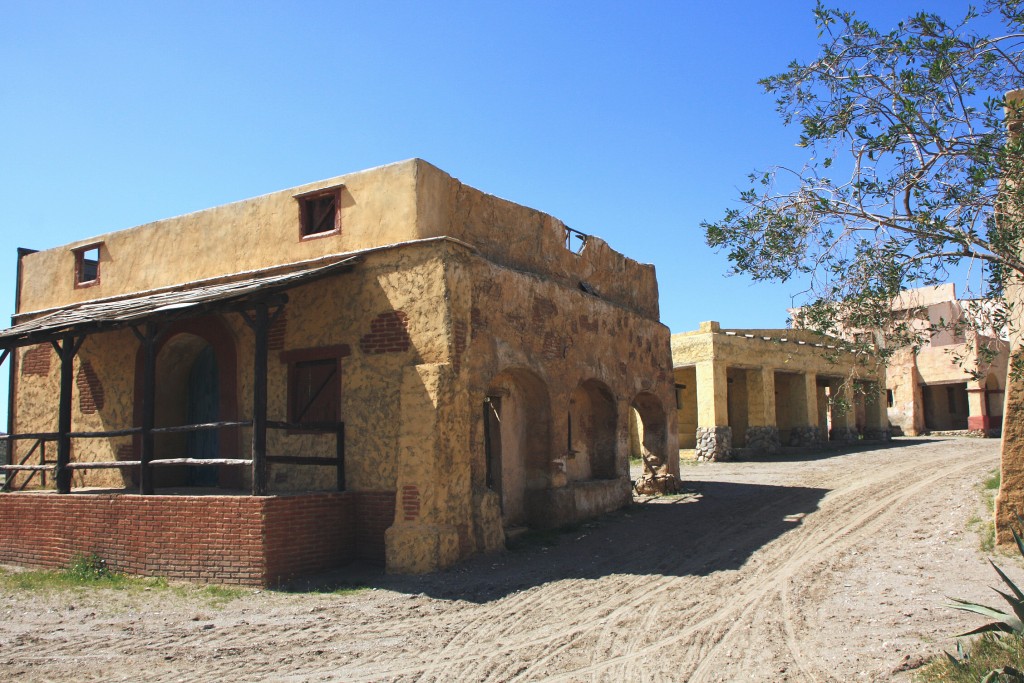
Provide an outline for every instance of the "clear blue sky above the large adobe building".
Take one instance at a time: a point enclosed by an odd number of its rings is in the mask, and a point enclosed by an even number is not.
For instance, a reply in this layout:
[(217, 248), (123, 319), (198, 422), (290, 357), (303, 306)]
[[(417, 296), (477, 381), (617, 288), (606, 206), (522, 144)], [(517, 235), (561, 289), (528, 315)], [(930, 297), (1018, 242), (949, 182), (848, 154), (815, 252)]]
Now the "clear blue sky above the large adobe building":
[(421, 157), (653, 263), (673, 331), (782, 327), (799, 288), (699, 223), (802, 159), (757, 80), (816, 53), (813, 5), (0, 0), (0, 318), (17, 247)]

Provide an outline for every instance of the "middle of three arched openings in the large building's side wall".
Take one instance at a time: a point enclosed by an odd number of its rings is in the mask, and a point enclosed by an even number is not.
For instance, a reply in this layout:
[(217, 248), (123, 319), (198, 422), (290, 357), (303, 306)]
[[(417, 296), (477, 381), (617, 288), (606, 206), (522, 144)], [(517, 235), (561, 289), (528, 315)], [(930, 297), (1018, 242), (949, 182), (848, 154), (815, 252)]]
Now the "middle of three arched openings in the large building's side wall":
[(616, 424), (615, 399), (607, 385), (587, 380), (577, 387), (569, 397), (569, 481), (615, 478)]

